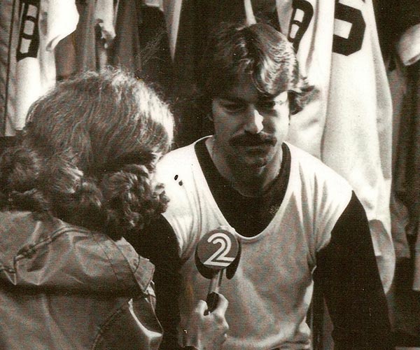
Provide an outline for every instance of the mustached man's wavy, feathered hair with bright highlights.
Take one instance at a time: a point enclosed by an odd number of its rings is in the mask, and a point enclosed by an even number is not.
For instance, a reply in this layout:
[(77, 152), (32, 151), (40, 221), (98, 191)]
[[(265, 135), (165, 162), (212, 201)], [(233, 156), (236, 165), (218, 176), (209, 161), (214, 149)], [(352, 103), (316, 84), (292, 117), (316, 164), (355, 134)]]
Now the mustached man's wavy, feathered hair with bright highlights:
[(211, 110), (211, 99), (228, 92), (246, 74), (265, 97), (288, 91), (290, 113), (301, 111), (315, 92), (302, 76), (293, 45), (265, 23), (224, 23), (210, 36), (200, 64), (198, 94)]

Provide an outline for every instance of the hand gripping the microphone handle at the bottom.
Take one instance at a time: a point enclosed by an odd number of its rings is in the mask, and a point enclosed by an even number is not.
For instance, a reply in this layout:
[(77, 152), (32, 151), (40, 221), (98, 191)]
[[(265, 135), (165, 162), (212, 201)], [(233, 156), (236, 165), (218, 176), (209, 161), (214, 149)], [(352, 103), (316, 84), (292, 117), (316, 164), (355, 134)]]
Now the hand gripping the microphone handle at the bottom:
[(225, 318), (228, 300), (218, 294), (214, 311), (208, 312), (207, 302), (199, 300), (183, 330), (183, 346), (198, 350), (218, 350), (228, 336), (229, 325)]

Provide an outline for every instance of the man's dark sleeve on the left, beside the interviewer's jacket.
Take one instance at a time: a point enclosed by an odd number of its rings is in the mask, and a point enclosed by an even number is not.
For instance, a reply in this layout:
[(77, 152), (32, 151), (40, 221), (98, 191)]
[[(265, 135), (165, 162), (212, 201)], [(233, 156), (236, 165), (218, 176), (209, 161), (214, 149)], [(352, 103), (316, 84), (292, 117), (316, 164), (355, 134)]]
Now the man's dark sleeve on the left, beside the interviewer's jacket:
[(181, 349), (176, 337), (176, 325), (179, 323), (181, 259), (174, 230), (167, 220), (160, 216), (158, 220), (126, 239), (139, 255), (148, 258), (155, 265), (153, 281), (156, 293), (156, 315), (164, 330), (160, 350)]

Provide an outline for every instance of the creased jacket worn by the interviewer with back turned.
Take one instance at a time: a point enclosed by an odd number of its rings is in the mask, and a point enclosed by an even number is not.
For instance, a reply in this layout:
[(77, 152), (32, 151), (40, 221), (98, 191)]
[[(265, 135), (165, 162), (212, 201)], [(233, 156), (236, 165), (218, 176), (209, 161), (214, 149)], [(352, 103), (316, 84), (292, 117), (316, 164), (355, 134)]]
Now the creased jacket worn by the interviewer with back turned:
[(0, 212), (0, 349), (158, 349), (153, 272), (125, 239)]

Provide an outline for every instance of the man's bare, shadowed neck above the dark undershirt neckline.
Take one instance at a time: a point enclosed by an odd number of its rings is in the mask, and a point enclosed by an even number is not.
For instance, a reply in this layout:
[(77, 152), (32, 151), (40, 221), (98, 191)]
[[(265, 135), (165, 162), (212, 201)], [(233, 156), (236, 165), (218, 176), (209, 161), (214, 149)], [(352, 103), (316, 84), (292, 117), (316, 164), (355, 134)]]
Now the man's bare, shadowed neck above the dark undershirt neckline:
[(214, 137), (206, 140), (207, 151), (218, 172), (223, 178), (230, 181), (232, 188), (235, 188), (241, 195), (255, 197), (262, 195), (270, 187), (272, 182), (279, 175), (281, 167), (281, 149), (270, 166), (251, 167), (236, 162), (235, 159), (228, 159), (223, 156), (214, 143)]

